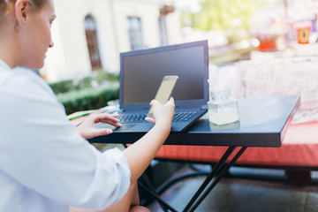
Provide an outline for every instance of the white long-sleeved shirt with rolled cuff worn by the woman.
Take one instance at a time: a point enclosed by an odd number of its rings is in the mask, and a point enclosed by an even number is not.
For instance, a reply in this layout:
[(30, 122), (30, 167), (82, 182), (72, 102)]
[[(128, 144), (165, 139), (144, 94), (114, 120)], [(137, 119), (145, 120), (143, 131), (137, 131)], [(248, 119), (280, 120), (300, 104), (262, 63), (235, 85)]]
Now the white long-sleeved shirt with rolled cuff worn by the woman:
[(0, 60), (0, 211), (106, 208), (130, 177), (123, 153), (84, 140), (41, 77)]

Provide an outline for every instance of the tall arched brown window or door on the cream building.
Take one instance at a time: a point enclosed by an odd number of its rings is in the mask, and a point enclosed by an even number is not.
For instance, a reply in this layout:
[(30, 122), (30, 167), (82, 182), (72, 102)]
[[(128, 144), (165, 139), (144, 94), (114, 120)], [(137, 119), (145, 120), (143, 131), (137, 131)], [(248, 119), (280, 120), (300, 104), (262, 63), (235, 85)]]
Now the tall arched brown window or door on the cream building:
[(92, 65), (92, 70), (101, 69), (101, 57), (98, 48), (98, 40), (96, 33), (95, 19), (91, 15), (87, 15), (84, 21), (85, 32), (87, 36), (87, 46), (89, 57)]

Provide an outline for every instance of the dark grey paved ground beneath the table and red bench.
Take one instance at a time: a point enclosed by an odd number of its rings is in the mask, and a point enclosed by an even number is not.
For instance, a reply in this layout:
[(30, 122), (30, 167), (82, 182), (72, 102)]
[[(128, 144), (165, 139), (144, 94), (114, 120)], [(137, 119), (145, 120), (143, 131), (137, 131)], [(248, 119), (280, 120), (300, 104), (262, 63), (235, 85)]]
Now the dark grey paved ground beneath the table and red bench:
[[(208, 167), (205, 166), (203, 169)], [(189, 171), (192, 170), (186, 165), (178, 171), (177, 175)], [(232, 171), (241, 171), (241, 169), (234, 168)], [(263, 171), (268, 175), (284, 175), (282, 170), (253, 171), (258, 173)], [(203, 180), (203, 177), (186, 178), (170, 186), (161, 197), (173, 208), (182, 211)], [(153, 212), (163, 211), (156, 202), (151, 203), (148, 208)], [(318, 186), (299, 186), (291, 182), (269, 180), (223, 178), (195, 211), (314, 212), (318, 211)]]

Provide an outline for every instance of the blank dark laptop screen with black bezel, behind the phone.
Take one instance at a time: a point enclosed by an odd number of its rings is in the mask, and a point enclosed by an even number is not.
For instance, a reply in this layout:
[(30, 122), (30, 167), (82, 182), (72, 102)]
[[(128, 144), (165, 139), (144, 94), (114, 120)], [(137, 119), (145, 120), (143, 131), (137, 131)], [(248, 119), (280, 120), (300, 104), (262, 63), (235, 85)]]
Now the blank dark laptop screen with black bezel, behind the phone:
[(165, 75), (179, 77), (172, 93), (176, 106), (178, 102), (208, 101), (207, 41), (125, 52), (120, 59), (121, 104), (148, 104)]

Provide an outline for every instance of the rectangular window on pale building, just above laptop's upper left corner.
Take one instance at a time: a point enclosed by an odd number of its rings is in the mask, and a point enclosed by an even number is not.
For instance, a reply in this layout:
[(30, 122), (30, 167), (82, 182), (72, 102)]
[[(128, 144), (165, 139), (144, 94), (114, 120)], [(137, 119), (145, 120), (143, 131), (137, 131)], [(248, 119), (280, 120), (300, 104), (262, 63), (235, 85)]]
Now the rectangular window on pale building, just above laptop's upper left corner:
[(143, 49), (141, 21), (138, 17), (127, 17), (131, 49)]

